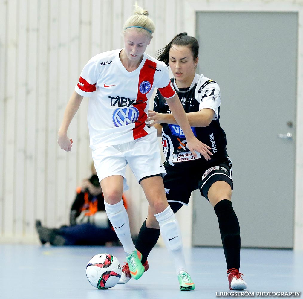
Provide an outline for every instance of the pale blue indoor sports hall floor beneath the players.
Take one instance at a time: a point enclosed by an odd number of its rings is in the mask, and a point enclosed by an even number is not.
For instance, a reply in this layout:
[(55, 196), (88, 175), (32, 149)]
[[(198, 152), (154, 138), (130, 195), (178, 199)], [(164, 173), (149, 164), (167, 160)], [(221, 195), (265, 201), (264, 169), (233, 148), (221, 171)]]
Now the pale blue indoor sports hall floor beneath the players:
[[(230, 292), (222, 248), (185, 249), (188, 269), (196, 284), (194, 291), (180, 291), (165, 248), (155, 247), (149, 269), (135, 281), (98, 290), (85, 276), (88, 260), (98, 253), (115, 255), (124, 262), (122, 247), (48, 247), (0, 244), (1, 299), (139, 299), (139, 298), (234, 298)], [(246, 291), (303, 291), (303, 252), (293, 250), (242, 249), (240, 272)], [(234, 291), (237, 292), (237, 291)], [(221, 293), (226, 295), (226, 293)], [(246, 296), (248, 297), (248, 293)], [(266, 295), (266, 294), (265, 294)], [(300, 294), (300, 297), (303, 295)], [(239, 296), (237, 296), (239, 297)], [(269, 297), (269, 296), (267, 296)], [(276, 296), (277, 297), (277, 296)], [(292, 298), (295, 296), (287, 297)]]

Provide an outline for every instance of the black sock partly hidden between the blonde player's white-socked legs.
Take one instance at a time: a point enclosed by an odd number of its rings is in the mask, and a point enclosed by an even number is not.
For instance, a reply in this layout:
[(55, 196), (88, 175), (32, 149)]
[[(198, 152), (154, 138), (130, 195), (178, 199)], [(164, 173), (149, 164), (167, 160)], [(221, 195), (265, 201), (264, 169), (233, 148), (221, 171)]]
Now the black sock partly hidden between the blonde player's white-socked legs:
[(141, 263), (144, 264), (147, 260), (148, 254), (157, 244), (160, 236), (160, 230), (146, 227), (146, 220), (143, 222), (136, 240), (135, 247), (142, 253)]

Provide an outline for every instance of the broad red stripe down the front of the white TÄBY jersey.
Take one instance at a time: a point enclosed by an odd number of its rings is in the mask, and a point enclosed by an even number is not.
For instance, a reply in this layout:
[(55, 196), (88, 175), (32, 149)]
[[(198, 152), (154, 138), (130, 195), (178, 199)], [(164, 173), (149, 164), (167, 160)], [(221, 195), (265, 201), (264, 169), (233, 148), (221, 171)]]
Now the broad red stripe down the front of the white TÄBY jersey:
[[(150, 67), (152, 66), (152, 67)], [(148, 81), (152, 87), (154, 83), (154, 75), (156, 71), (157, 63), (151, 60), (146, 59), (144, 66), (142, 67), (139, 74), (139, 82), (138, 82), (138, 94), (137, 101), (134, 103), (134, 107), (136, 107), (139, 111), (138, 120), (135, 122), (135, 128), (133, 129), (133, 137), (134, 139), (138, 139), (147, 135), (147, 132), (144, 130), (145, 128), (145, 120), (147, 119), (147, 114), (144, 112), (144, 109), (147, 106), (147, 93), (143, 94), (140, 92), (140, 84), (143, 81)]]

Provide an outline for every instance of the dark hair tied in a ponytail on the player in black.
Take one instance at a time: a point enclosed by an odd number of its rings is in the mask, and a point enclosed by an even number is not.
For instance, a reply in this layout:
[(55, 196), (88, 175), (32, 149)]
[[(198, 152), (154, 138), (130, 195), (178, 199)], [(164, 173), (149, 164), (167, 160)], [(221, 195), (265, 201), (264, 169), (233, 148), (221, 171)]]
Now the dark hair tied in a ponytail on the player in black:
[(169, 64), (169, 50), (172, 45), (189, 46), (194, 60), (199, 55), (199, 43), (197, 39), (192, 36), (188, 36), (187, 32), (179, 33), (171, 40), (171, 42), (169, 42), (164, 48), (160, 49), (156, 53), (157, 59), (159, 61), (163, 61), (167, 66)]

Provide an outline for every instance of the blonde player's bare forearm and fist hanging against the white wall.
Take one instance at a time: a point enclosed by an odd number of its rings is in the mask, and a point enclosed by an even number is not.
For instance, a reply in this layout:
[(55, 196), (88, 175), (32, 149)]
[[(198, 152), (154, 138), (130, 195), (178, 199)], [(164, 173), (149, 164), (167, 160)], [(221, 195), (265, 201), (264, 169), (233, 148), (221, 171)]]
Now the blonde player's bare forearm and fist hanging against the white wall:
[(62, 150), (65, 150), (66, 152), (70, 152), (72, 150), (73, 143), (72, 139), (69, 139), (67, 137), (67, 129), (76, 112), (78, 111), (82, 99), (83, 96), (80, 96), (77, 92), (74, 91), (64, 111), (62, 123), (58, 131), (58, 145), (62, 148)]

